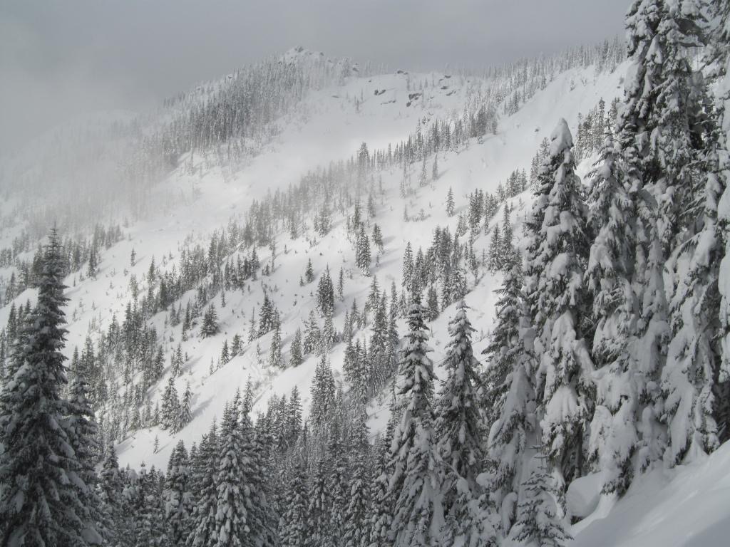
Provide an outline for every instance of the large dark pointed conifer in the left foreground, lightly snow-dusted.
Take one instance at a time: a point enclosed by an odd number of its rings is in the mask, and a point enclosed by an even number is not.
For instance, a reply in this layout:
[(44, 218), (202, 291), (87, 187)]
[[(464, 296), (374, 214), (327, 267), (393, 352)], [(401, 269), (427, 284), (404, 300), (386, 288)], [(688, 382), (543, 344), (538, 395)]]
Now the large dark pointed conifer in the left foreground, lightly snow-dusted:
[[(0, 538), (4, 545), (101, 543), (83, 494), (93, 485), (71, 448), (77, 442), (64, 373), (64, 263), (52, 230), (38, 279), (38, 300), (20, 332), (12, 381), (0, 393)], [(99, 539), (99, 541), (96, 541)]]

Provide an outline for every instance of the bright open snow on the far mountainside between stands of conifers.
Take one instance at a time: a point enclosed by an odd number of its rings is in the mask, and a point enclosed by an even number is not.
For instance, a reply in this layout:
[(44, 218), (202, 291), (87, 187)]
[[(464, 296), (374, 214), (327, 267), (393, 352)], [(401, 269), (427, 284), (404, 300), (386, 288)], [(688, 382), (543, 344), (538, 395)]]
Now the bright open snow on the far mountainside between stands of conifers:
[[(399, 183), (403, 178), (401, 170), (393, 168), (377, 174), (382, 178), (384, 195), (377, 198), (372, 222), (377, 222), (383, 230), (385, 249), (378, 264), (372, 267), (372, 276), (377, 277), (381, 290), (389, 291), (391, 282), (395, 282), (400, 290), (401, 260), (407, 242), (410, 241), (414, 251), (418, 247), (425, 249), (431, 244), (437, 225), (448, 226), (452, 233), (456, 231), (458, 214), (466, 209), (470, 193), (474, 190), (495, 193), (499, 183), (504, 183), (515, 169), (529, 171), (531, 158), (540, 141), (550, 133), (558, 118), (565, 117), (575, 128), (579, 112), (588, 112), (599, 98), (609, 103), (620, 95), (624, 70), (622, 65), (615, 71), (596, 75), (595, 67), (588, 66), (558, 74), (518, 112), (502, 117), (496, 134), (488, 134), (479, 141), (470, 139), (466, 148), (439, 154), (437, 181), (429, 181), (428, 185), (417, 188), (415, 195), (405, 200), (399, 195)], [(426, 82), (428, 87), (421, 91), (420, 86)], [(437, 73), (401, 72), (348, 77), (343, 85), (309, 93), (293, 112), (277, 120), (280, 132), (272, 142), (233, 173), (226, 167), (209, 165), (207, 160), (184, 156), (180, 166), (152, 190), (150, 199), (155, 203), (158, 214), (123, 229), (125, 240), (101, 255), (96, 279), (87, 278), (82, 282), (78, 276), (67, 279), (71, 286), (68, 291), (71, 300), (66, 348), (69, 357), (74, 346), (82, 348), (88, 334), (96, 339), (98, 333), (110, 324), (112, 317), (115, 316), (118, 321), (123, 319), (126, 303), (131, 299), (131, 276), (144, 279), (153, 257), (163, 272), (176, 265), (179, 268), (180, 249), (186, 238), (191, 238), (188, 239), (191, 244), (199, 243), (205, 248), (214, 230), (226, 225), (231, 218), (240, 219), (254, 200), (296, 184), (307, 171), (326, 166), (331, 161), (347, 160), (358, 150), (361, 142), (365, 142), (370, 150), (387, 147), (388, 143), (397, 144), (401, 139), (407, 139), (419, 123), (425, 126), (427, 121), (437, 117), (449, 119), (458, 116), (470, 97), (483, 93), (488, 85), (486, 79)], [(412, 93), (420, 93), (420, 96), (410, 98)], [(429, 158), (429, 170), (431, 161), (432, 158)], [(585, 162), (584, 171), (588, 165)], [(412, 167), (410, 176), (414, 182), (418, 178), (419, 167), (418, 163)], [(456, 201), (453, 217), (447, 217), (445, 213), (445, 199), (450, 187)], [(509, 200), (514, 208), (511, 217), (517, 236), (530, 200), (529, 193)], [(404, 222), (404, 206), (412, 212), (412, 216), (423, 210), (424, 220)], [(493, 222), (501, 220), (500, 210), (493, 217)], [(176, 380), (177, 391), (182, 393), (185, 385), (190, 383), (194, 394), (193, 420), (174, 435), (158, 427), (128, 435), (118, 446), (120, 464), (137, 467), (145, 462), (164, 468), (177, 441), (182, 439), (188, 446), (198, 441), (212, 420), (222, 416), (226, 401), (234, 397), (237, 389), (243, 389), (249, 378), (258, 384), (254, 413), (264, 411), (272, 395), (288, 395), (295, 386), (299, 387), (306, 411), (317, 357), (308, 357), (296, 368), (273, 370), (267, 366), (272, 336), (269, 333), (245, 344), (241, 354), (212, 374), (211, 361), (218, 360), (224, 340), (231, 344), (236, 333), (246, 339), (250, 313), (255, 308), (258, 314), (264, 292), (280, 310), (283, 348), (287, 357), (296, 329), (303, 326), (310, 310), (315, 309), (316, 279), (304, 287), (298, 283), (310, 258), (315, 265), (316, 278), (326, 265), (329, 265), (333, 277), (340, 266), (345, 268), (344, 300), (337, 302), (334, 312), (338, 330), (342, 328), (345, 310), (350, 308), (353, 299), (360, 305), (366, 300), (372, 276), (361, 275), (355, 267), (353, 245), (347, 241), (342, 216), (334, 217), (333, 229), (324, 237), (320, 238), (310, 228), (304, 237), (296, 239), (288, 233), (280, 233), (276, 242), (276, 268), (270, 276), (248, 284), (245, 293), (227, 292), (226, 306), (222, 309), (220, 295), (212, 298), (219, 308), (218, 335), (201, 338), (196, 327), (187, 341), (181, 341), (180, 326), (167, 325), (166, 313), (153, 317), (151, 323), (164, 341), (166, 369), (156, 388), (150, 392), (151, 404), (161, 403), (161, 393), (169, 377), (169, 355), (180, 342), (189, 360), (185, 362), (183, 375)], [(488, 248), (488, 236), (483, 230), (475, 239), (474, 247), (477, 256)], [(134, 265), (130, 265), (133, 249), (136, 260)], [(269, 249), (259, 248), (258, 254), (262, 264), (271, 259)], [(349, 279), (350, 275), (352, 279)], [(478, 331), (477, 350), (480, 351), (485, 345), (484, 337), (491, 329), (496, 299), (493, 290), (499, 287), (500, 279), (485, 274), (475, 286), (473, 278), (469, 277), (470, 292), (466, 301), (473, 308), (472, 322)], [(143, 294), (146, 289), (145, 282), (140, 281), (139, 292)], [(192, 295), (193, 291), (185, 295), (183, 308)], [(31, 290), (18, 295), (15, 301), (24, 303), (29, 297)], [(7, 320), (8, 313), (9, 306), (0, 310), (0, 324)], [(446, 309), (431, 324), (434, 362), (438, 363), (442, 358), (447, 322), (452, 315), (453, 309)], [(402, 332), (402, 323), (400, 327)], [(366, 334), (367, 329), (356, 337)], [(260, 354), (257, 354), (257, 346)], [(339, 381), (342, 381), (344, 349), (345, 344), (337, 344), (328, 356)], [(387, 408), (387, 404), (376, 400), (370, 409), (373, 435), (387, 419), (383, 408)], [(153, 449), (155, 438), (159, 441), (156, 452)]]

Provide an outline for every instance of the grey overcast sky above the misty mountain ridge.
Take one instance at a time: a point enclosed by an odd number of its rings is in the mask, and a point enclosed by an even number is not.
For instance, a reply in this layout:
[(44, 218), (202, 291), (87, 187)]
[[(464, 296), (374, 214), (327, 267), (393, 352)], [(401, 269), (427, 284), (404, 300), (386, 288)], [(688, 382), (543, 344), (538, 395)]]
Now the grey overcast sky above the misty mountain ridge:
[(0, 147), (144, 109), (301, 45), (391, 69), (485, 66), (623, 34), (629, 0), (0, 0)]

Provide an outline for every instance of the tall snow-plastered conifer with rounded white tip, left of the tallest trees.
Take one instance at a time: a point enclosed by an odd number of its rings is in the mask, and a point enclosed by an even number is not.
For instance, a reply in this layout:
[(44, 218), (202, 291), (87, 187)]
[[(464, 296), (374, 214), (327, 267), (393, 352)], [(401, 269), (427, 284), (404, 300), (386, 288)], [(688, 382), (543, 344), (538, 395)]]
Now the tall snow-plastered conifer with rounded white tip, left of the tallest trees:
[(560, 120), (540, 169), (526, 268), (526, 296), (537, 330), (542, 445), (564, 484), (585, 473), (583, 443), (593, 412), (593, 362), (584, 338), (589, 299), (583, 284), (588, 258), (586, 207), (574, 172), (572, 136)]

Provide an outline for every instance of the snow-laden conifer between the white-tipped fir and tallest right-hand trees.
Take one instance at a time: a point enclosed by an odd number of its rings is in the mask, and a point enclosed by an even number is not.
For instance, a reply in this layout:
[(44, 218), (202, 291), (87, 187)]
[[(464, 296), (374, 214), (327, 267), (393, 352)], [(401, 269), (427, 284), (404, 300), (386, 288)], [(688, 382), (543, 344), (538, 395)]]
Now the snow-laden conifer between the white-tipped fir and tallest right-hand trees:
[(623, 494), (633, 475), (630, 459), (637, 446), (641, 414), (637, 387), (643, 375), (629, 353), (638, 305), (631, 289), (636, 244), (631, 220), (636, 212), (624, 187), (620, 162), (609, 134), (591, 177), (588, 221), (596, 237), (586, 281), (596, 324), (592, 357), (600, 371), (590, 453), (604, 470), (604, 492)]

